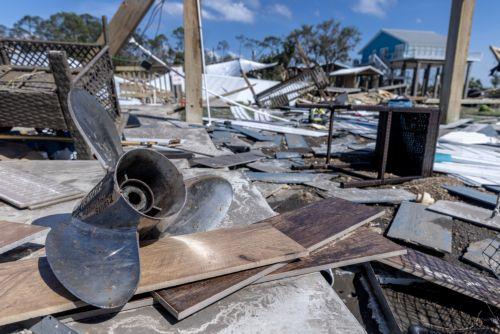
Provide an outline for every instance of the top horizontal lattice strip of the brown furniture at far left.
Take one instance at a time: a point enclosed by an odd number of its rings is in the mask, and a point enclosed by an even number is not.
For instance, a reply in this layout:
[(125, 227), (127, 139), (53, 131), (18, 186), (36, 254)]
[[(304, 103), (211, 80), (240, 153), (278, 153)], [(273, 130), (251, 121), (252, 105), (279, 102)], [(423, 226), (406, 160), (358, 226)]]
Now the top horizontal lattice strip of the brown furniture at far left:
[(3, 65), (49, 67), (49, 51), (65, 51), (70, 68), (87, 65), (102, 46), (98, 44), (76, 44), (48, 41), (1, 39), (0, 50)]

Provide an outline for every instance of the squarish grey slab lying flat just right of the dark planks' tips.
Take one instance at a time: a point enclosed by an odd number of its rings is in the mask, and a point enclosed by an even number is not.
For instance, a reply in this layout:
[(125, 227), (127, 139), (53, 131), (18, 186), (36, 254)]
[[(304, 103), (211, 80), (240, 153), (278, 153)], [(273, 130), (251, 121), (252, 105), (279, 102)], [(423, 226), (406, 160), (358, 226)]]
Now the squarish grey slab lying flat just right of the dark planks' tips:
[(387, 236), (451, 253), (452, 222), (451, 217), (428, 211), (425, 205), (403, 202), (389, 227)]

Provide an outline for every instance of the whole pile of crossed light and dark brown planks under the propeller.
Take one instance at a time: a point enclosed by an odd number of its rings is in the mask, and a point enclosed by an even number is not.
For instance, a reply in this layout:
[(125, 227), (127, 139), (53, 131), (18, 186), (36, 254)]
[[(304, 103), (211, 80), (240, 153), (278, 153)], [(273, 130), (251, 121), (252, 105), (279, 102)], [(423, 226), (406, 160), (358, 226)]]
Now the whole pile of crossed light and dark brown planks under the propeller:
[[(404, 255), (366, 226), (382, 214), (329, 198), (256, 224), (165, 237), (140, 248), (136, 294), (152, 293), (182, 319), (252, 283)], [(82, 306), (45, 257), (0, 264), (0, 325)]]

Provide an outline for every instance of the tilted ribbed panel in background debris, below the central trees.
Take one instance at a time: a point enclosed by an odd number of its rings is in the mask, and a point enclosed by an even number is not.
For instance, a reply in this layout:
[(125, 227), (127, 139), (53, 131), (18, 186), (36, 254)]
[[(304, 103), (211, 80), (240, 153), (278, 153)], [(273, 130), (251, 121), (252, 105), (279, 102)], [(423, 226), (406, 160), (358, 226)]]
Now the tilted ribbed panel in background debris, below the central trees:
[(328, 85), (328, 78), (321, 67), (306, 69), (303, 73), (277, 84), (259, 94), (259, 105), (277, 108), (288, 105), (288, 101), (298, 98), (314, 89)]

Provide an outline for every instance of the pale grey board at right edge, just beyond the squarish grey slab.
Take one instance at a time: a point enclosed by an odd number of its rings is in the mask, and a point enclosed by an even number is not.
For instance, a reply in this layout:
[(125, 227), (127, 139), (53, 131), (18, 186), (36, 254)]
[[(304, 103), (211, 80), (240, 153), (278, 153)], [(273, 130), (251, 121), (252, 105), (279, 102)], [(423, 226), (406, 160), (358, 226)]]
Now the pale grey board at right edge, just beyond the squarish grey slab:
[(442, 200), (432, 204), (427, 210), (500, 231), (500, 216), (491, 218), (491, 210), (474, 205)]

